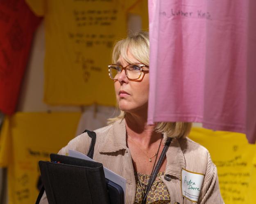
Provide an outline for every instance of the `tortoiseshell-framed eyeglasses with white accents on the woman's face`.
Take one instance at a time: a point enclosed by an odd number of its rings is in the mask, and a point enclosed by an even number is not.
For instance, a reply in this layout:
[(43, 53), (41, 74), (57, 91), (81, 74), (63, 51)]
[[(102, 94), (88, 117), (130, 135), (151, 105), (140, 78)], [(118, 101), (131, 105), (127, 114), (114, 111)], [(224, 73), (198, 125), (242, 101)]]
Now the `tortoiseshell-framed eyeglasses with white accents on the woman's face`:
[(143, 80), (145, 73), (149, 72), (148, 70), (142, 69), (143, 67), (147, 67), (147, 68), (149, 67), (145, 64), (128, 64), (126, 67), (122, 67), (119, 64), (109, 64), (108, 67), (109, 67), (109, 77), (112, 80), (117, 80), (119, 74), (122, 72), (123, 69), (125, 70), (125, 75), (129, 80), (137, 80), (137, 81)]

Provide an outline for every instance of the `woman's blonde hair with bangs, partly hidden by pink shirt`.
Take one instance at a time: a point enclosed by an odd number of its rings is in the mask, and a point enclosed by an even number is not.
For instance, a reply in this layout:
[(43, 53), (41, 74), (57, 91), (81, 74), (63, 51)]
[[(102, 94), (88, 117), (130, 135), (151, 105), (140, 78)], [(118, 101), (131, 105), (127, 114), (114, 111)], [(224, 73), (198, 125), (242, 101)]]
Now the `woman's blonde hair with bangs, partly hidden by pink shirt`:
[[(112, 62), (115, 64), (119, 57), (122, 56), (122, 58), (124, 58), (128, 63), (134, 63), (128, 58), (128, 49), (136, 60), (149, 66), (150, 40), (148, 32), (140, 31), (116, 42), (113, 47)], [(125, 112), (120, 111), (120, 115), (115, 118), (108, 119), (108, 124), (113, 124), (117, 120), (124, 118)], [(155, 131), (162, 134), (165, 133), (168, 135), (168, 137), (179, 138), (186, 137), (190, 133), (191, 127), (191, 122), (157, 122)]]

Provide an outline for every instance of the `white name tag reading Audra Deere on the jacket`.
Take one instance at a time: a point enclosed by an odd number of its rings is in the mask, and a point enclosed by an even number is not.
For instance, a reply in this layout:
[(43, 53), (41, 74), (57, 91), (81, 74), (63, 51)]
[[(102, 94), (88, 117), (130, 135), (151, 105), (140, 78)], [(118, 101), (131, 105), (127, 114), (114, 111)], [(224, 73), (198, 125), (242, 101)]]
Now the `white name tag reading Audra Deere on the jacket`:
[(198, 202), (199, 194), (204, 181), (204, 174), (181, 170), (181, 192), (191, 202)]

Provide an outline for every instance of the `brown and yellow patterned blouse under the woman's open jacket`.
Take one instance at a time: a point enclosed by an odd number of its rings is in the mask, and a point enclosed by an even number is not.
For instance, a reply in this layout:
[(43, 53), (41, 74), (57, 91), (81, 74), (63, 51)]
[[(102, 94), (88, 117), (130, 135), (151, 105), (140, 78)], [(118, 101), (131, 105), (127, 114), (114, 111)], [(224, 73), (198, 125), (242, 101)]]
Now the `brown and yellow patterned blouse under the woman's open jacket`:
[[(160, 172), (156, 176), (156, 180), (152, 184), (151, 190), (147, 195), (147, 204), (168, 204), (170, 203), (170, 195), (167, 187), (161, 179), (164, 172)], [(141, 204), (143, 195), (146, 193), (147, 184), (150, 180), (150, 175), (143, 173), (135, 173), (136, 180), (136, 195), (134, 204)]]

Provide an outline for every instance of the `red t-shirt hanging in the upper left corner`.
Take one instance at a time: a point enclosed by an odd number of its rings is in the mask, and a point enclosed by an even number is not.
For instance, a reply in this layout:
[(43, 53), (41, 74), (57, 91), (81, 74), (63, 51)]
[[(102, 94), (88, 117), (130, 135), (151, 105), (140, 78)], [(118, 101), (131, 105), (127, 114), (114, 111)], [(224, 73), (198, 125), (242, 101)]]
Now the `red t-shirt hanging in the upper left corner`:
[(24, 0), (0, 1), (0, 111), (15, 111), (33, 33), (40, 22)]

